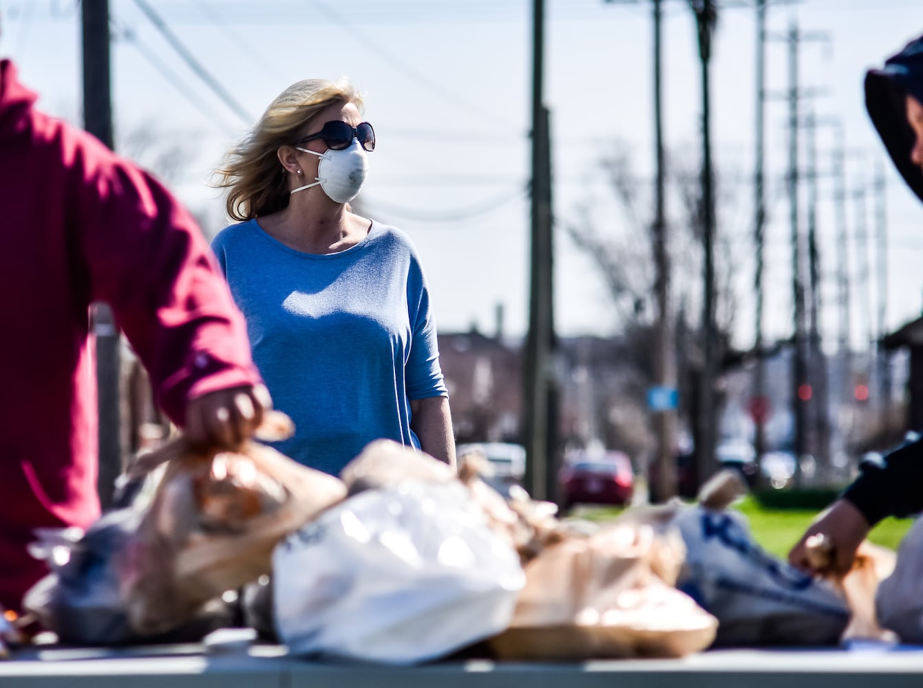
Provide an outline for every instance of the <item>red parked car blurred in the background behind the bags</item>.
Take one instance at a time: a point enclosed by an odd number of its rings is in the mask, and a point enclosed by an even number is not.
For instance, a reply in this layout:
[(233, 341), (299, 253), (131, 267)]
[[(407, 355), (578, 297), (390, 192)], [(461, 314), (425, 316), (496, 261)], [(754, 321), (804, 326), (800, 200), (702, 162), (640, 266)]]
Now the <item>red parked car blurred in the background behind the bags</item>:
[(631, 460), (623, 452), (578, 453), (558, 474), (561, 508), (574, 504), (629, 504), (634, 493)]

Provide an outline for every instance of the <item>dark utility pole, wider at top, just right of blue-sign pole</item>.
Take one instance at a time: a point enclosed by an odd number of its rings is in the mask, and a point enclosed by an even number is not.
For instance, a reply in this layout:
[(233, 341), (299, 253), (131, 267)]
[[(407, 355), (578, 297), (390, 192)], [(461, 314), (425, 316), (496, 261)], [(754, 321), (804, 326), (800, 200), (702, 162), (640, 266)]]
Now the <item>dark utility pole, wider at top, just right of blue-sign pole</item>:
[(689, 0), (695, 14), (701, 63), (701, 230), (704, 254), (702, 296), (703, 364), (699, 385), (699, 433), (696, 438), (696, 476), (705, 480), (715, 465), (714, 447), (718, 414), (714, 404), (714, 379), (718, 360), (718, 341), (714, 322), (714, 187), (712, 171), (711, 85), (709, 63), (712, 36), (718, 18), (714, 0)]

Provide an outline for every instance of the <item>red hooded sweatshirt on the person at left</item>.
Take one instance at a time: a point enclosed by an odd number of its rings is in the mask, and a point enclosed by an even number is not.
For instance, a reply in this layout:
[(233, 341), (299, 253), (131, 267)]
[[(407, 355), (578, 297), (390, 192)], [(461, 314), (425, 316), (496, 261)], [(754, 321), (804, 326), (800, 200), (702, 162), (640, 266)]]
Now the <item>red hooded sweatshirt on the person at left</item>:
[(180, 425), (189, 398), (259, 382), (195, 220), (35, 99), (0, 61), (0, 604), (14, 610), (47, 573), (32, 530), (100, 514), (90, 302), (112, 305)]

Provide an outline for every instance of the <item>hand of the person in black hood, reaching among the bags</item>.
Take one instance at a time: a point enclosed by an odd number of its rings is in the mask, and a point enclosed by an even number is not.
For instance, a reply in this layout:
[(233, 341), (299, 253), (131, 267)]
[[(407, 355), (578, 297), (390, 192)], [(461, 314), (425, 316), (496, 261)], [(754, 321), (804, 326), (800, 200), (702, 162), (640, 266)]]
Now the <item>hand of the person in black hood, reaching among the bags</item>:
[[(788, 563), (815, 575), (845, 575), (852, 568), (856, 551), (869, 535), (869, 522), (851, 502), (838, 499), (818, 516), (788, 552)], [(819, 567), (809, 552), (810, 541), (829, 548), (829, 561)]]

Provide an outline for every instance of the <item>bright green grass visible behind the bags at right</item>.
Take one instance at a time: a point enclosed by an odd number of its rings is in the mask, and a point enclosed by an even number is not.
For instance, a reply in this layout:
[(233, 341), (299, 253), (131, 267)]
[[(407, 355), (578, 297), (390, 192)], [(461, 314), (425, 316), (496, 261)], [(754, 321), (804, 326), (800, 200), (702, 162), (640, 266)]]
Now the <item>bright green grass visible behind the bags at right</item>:
[[(769, 509), (761, 506), (753, 497), (744, 497), (733, 508), (747, 516), (753, 540), (767, 552), (785, 559), (788, 551), (808, 528), (810, 522), (820, 513), (809, 509)], [(573, 516), (597, 522), (611, 520), (622, 513), (621, 509), (606, 507), (580, 507)], [(869, 540), (876, 544), (897, 549), (906, 531), (913, 525), (909, 518), (886, 518), (872, 528)]]

